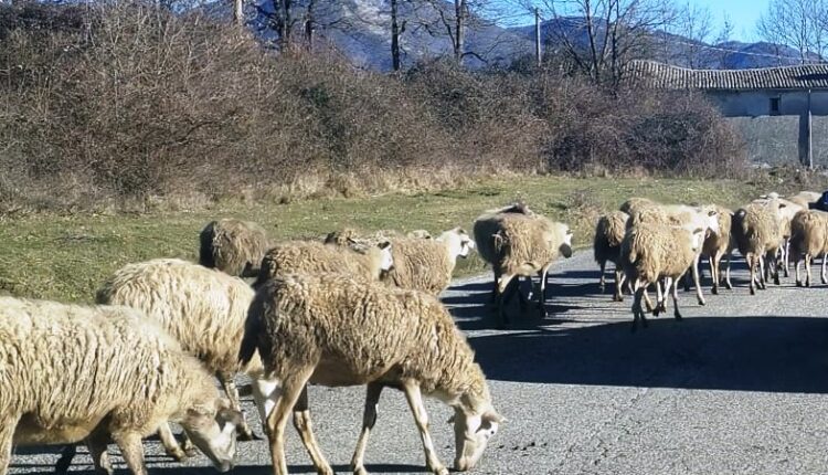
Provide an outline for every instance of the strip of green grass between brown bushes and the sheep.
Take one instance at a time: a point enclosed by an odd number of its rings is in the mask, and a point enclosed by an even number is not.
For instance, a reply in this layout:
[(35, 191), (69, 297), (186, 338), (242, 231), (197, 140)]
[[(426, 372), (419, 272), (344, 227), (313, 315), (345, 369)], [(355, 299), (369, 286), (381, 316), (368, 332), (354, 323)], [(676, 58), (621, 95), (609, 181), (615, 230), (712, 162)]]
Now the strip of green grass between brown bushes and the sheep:
[[(575, 244), (585, 247), (592, 244), (597, 214), (633, 196), (737, 207), (761, 191), (735, 181), (512, 177), (438, 192), (289, 204), (229, 202), (198, 212), (7, 218), (0, 221), (0, 291), (92, 302), (104, 278), (126, 263), (153, 257), (195, 260), (199, 231), (224, 217), (257, 221), (274, 239), (318, 238), (342, 226), (437, 233), (456, 225), (470, 231), (481, 211), (520, 198), (534, 211), (567, 222), (574, 229)], [(474, 257), (461, 262), (456, 275), (482, 271), (481, 261)]]

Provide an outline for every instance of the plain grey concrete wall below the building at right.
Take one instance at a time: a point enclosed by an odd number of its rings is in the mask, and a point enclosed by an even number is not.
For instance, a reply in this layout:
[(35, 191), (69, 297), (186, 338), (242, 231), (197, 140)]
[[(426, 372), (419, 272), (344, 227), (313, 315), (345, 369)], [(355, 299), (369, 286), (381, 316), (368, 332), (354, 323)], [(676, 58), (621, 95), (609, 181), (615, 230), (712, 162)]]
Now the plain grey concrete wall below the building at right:
[[(762, 116), (725, 118), (744, 138), (747, 158), (755, 163), (799, 163), (799, 117)], [(828, 117), (814, 116), (815, 167), (828, 167)]]

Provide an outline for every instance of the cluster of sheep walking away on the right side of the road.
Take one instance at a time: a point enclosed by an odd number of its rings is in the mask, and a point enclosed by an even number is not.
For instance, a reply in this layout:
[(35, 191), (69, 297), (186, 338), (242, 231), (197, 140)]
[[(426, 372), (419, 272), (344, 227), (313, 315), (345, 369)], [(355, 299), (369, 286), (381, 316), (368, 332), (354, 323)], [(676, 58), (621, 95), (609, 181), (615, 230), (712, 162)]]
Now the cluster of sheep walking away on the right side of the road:
[[(607, 262), (615, 264), (615, 300), (623, 300), (626, 287), (634, 294), (633, 329), (640, 321), (647, 326), (644, 306), (654, 315), (666, 312), (667, 296), (672, 296), (673, 315), (681, 319), (678, 286), (692, 275), (699, 305), (704, 305), (699, 278), (699, 261), (707, 256), (718, 294), (722, 282), (733, 288), (730, 257), (733, 250), (744, 256), (750, 268), (751, 295), (756, 287), (766, 288), (773, 278), (779, 284), (779, 272), (789, 275), (796, 265), (796, 285), (802, 286), (800, 264), (805, 261), (805, 286), (810, 285), (810, 264), (822, 258), (822, 283), (828, 283), (825, 255), (828, 253), (828, 213), (810, 209), (820, 194), (803, 191), (781, 198), (769, 193), (753, 200), (735, 212), (719, 205), (665, 205), (634, 198), (619, 211), (601, 217), (596, 226), (594, 252), (601, 266), (601, 286), (605, 285)], [(720, 267), (726, 257), (724, 273)], [(686, 281), (687, 282), (687, 281)], [(654, 306), (647, 289), (655, 286)], [(688, 284), (686, 283), (686, 288)]]

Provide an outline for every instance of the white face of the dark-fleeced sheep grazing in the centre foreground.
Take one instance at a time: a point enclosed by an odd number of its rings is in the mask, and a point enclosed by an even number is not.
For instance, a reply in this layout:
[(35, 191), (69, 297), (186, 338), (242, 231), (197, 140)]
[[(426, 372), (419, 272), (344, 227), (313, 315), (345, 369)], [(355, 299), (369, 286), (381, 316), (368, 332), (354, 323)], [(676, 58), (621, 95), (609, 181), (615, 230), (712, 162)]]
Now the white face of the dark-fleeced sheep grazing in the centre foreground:
[(498, 432), (503, 418), (491, 408), (479, 414), (469, 414), (461, 408), (457, 408), (453, 421), (457, 451), (454, 467), (459, 472), (466, 472), (474, 468), (480, 461), (486, 445)]

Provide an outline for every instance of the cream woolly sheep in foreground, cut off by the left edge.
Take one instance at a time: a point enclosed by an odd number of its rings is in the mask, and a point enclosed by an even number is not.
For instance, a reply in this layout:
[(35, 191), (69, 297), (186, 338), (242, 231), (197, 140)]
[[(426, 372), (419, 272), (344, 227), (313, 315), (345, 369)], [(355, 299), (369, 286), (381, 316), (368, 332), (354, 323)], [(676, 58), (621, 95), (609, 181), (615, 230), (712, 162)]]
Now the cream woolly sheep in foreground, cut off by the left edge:
[(139, 312), (0, 297), (0, 474), (12, 445), (84, 440), (112, 473), (114, 441), (146, 474), (141, 439), (180, 423), (221, 472), (232, 468), (241, 414), (201, 363)]

